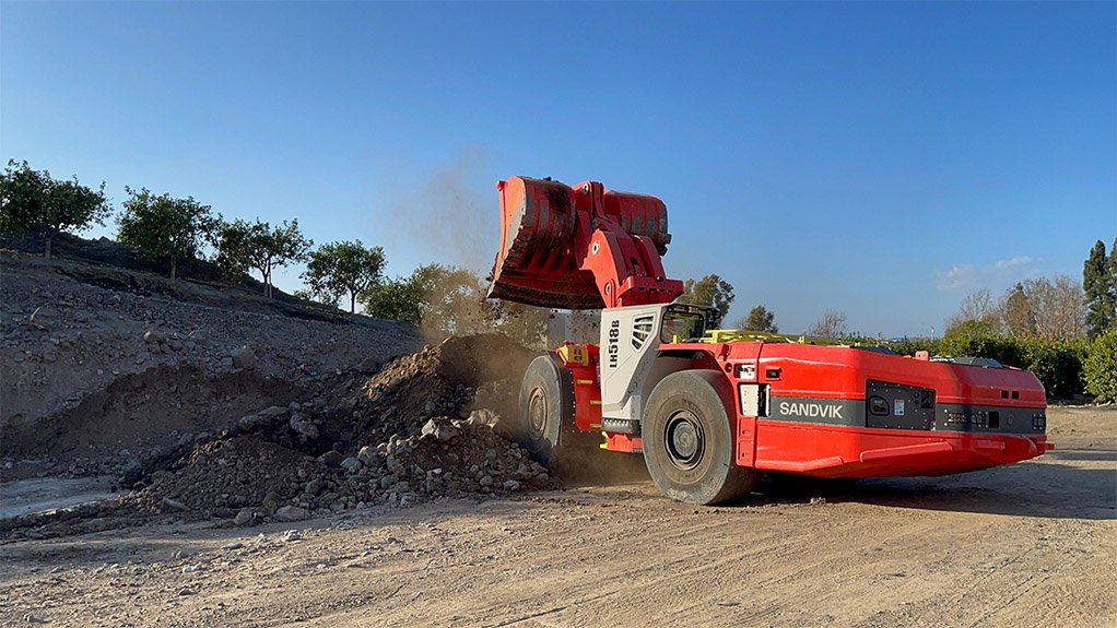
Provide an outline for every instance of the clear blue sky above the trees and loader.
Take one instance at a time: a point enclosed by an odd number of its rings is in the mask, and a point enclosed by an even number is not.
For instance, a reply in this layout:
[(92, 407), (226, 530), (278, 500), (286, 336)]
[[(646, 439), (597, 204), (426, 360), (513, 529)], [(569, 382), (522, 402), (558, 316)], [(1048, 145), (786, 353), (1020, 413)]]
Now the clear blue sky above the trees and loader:
[(592, 178), (662, 197), (731, 317), (941, 332), (1117, 235), (1115, 6), (4, 1), (0, 157), (390, 274), (487, 271), (498, 178)]

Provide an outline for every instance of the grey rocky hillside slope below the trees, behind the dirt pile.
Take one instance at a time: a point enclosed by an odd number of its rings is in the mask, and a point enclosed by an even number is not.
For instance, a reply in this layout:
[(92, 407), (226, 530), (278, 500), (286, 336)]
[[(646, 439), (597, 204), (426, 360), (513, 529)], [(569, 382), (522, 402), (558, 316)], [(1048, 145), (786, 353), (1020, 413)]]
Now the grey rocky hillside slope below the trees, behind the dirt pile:
[(3, 252), (0, 277), (6, 479), (146, 463), (423, 345), (407, 325), (113, 267)]

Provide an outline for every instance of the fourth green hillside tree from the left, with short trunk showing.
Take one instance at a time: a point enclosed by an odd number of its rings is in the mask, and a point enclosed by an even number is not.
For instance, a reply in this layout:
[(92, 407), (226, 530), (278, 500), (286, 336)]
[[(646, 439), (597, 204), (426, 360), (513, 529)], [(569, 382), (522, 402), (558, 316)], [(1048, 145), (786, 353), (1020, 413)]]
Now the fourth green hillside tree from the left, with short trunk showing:
[(349, 294), (350, 312), (356, 311), (356, 298), (383, 280), (384, 250), (366, 249), (360, 240), (332, 242), (313, 251), (303, 279), (312, 294), (324, 303), (337, 305)]

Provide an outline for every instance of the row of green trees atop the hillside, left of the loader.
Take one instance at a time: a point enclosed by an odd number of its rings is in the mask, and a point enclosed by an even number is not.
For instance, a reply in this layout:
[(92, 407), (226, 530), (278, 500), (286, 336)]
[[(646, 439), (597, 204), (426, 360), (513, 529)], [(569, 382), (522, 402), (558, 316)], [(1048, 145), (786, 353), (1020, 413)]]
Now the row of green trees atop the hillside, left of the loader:
[[(388, 279), (382, 248), (360, 240), (315, 248), (297, 219), (279, 224), (226, 220), (192, 196), (155, 194), (146, 187), (125, 187), (125, 193), (116, 215), (117, 241), (166, 264), (171, 279), (178, 279), (181, 262), (208, 259), (233, 280), (255, 272), (270, 298), (274, 272), (305, 263), (300, 277), (306, 288), (296, 291), (297, 297), (334, 307), (345, 301), (353, 313), (361, 305), (364, 313), (412, 322), (432, 336), (498, 330), (529, 346), (545, 339), (550, 310), (488, 301), (481, 278), (470, 270), (428, 264)], [(112, 214), (104, 183), (94, 189), (76, 176), (59, 181), (16, 161), (0, 175), (0, 233), (41, 238), (48, 259), (60, 233), (104, 226)]]

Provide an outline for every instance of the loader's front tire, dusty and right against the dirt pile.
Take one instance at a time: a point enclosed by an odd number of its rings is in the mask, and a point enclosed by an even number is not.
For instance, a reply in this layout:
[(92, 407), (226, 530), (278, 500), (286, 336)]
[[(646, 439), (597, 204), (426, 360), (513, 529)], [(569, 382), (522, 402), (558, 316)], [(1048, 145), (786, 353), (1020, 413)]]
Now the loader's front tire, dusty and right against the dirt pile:
[(532, 360), (519, 386), (516, 439), (541, 464), (557, 458), (563, 425), (574, 423), (574, 385), (570, 369), (554, 356)]

